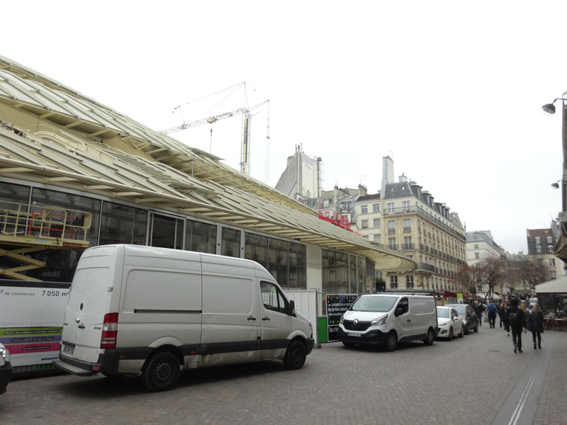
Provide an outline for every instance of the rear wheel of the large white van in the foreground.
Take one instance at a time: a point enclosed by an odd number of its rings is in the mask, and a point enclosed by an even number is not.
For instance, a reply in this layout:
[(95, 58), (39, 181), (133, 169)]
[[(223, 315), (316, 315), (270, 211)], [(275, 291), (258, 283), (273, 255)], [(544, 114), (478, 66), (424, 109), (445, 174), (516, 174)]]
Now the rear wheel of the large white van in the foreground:
[(155, 353), (142, 369), (142, 382), (151, 391), (170, 390), (179, 379), (179, 360), (169, 351)]

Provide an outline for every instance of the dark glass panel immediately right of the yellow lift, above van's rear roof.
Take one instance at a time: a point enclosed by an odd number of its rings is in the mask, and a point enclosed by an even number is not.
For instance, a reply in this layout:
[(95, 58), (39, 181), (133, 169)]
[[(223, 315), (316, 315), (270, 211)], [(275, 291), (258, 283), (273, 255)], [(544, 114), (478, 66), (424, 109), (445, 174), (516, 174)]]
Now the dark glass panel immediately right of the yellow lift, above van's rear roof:
[(99, 244), (144, 245), (146, 224), (145, 210), (104, 201)]

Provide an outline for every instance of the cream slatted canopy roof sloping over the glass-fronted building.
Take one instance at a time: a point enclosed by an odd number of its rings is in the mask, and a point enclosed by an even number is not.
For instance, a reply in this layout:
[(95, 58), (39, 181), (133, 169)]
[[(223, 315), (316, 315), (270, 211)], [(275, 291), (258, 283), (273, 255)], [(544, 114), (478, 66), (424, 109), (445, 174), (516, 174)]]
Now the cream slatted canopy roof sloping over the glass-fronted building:
[(0, 128), (0, 176), (348, 251), (382, 271), (417, 266), (398, 251), (319, 220), (317, 212), (220, 158), (1, 56), (0, 113), (0, 121), (12, 121)]

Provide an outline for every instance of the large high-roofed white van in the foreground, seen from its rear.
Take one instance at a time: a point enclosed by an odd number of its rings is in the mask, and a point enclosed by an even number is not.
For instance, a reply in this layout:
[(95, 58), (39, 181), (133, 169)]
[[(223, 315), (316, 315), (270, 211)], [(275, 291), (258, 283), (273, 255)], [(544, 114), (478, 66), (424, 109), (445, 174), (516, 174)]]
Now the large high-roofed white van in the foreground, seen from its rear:
[(258, 263), (191, 251), (103, 245), (84, 251), (71, 286), (57, 367), (142, 373), (169, 390), (181, 368), (283, 360), (299, 369), (313, 327)]

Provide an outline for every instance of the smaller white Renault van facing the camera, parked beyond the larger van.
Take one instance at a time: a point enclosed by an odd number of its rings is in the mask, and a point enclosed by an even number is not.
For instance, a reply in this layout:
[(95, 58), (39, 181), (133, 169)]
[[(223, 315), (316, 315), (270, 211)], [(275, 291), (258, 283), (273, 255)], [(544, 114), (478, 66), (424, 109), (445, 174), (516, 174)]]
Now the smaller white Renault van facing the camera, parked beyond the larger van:
[(422, 340), (431, 345), (438, 332), (432, 295), (361, 295), (339, 323), (339, 341), (344, 346), (384, 345), (388, 351), (394, 351), (402, 341)]

